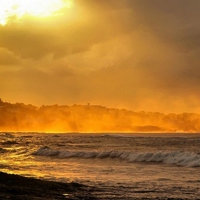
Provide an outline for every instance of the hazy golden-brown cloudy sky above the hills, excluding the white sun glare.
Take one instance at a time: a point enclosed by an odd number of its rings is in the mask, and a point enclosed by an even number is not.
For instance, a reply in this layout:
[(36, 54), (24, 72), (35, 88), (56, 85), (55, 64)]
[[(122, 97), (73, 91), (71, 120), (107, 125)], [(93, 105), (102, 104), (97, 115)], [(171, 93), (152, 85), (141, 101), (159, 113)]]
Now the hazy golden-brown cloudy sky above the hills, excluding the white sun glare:
[(200, 112), (200, 0), (71, 3), (0, 25), (0, 98)]

